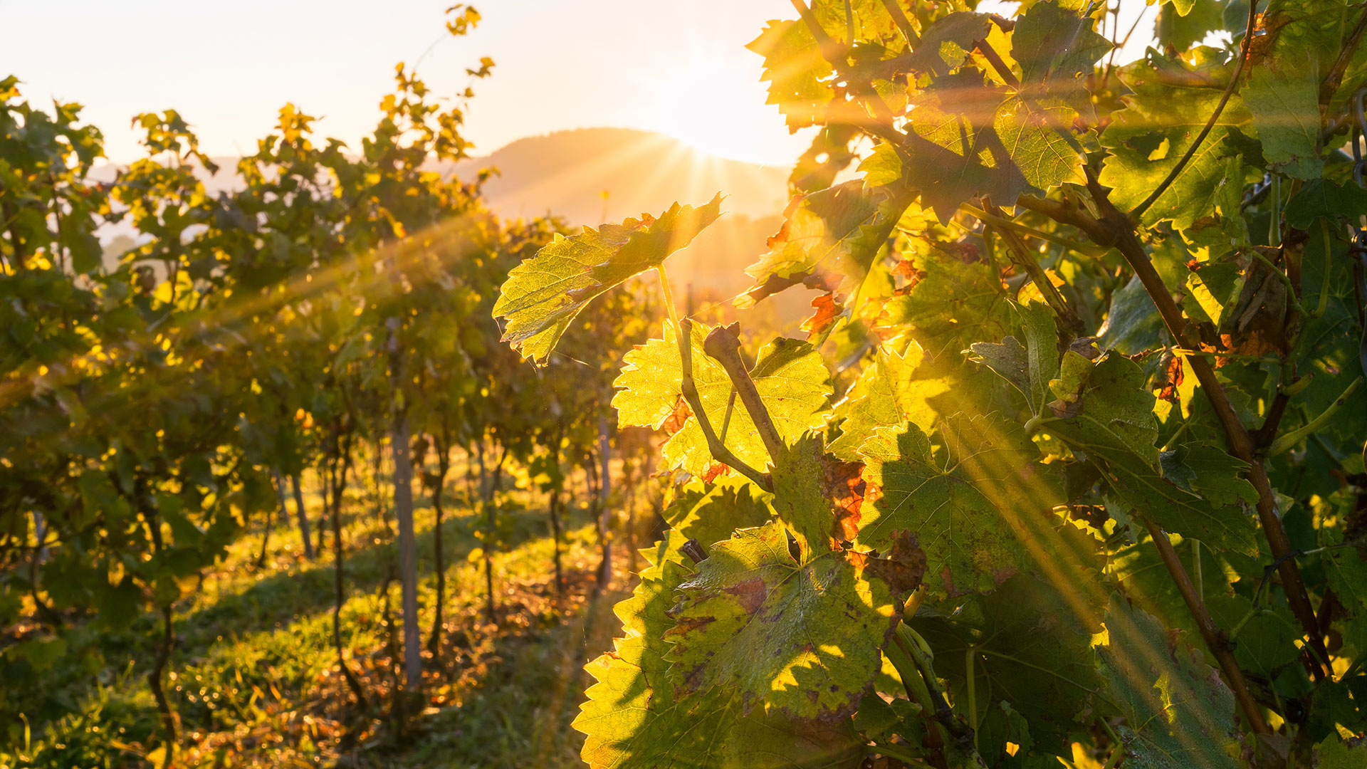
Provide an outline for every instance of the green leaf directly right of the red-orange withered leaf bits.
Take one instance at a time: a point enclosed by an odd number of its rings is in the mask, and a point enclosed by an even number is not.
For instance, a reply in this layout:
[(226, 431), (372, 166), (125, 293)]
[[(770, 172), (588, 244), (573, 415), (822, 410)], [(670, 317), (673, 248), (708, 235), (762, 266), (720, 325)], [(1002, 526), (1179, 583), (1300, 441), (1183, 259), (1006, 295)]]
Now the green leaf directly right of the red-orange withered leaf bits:
[(1017, 571), (1021, 547), (1001, 512), (972, 483), (934, 464), (916, 426), (879, 428), (860, 454), (867, 487), (858, 547), (887, 550), (894, 532), (916, 532), (927, 584), (942, 595), (992, 590)]

